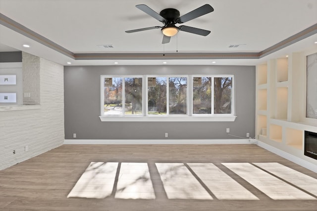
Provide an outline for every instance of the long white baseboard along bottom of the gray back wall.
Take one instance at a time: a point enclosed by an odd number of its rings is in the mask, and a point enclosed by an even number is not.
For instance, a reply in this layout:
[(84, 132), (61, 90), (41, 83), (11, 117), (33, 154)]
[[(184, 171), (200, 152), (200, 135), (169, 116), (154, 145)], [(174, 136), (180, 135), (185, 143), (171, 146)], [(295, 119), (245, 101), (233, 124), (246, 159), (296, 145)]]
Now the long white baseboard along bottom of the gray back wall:
[(64, 144), (254, 144), (255, 139), (65, 139)]

